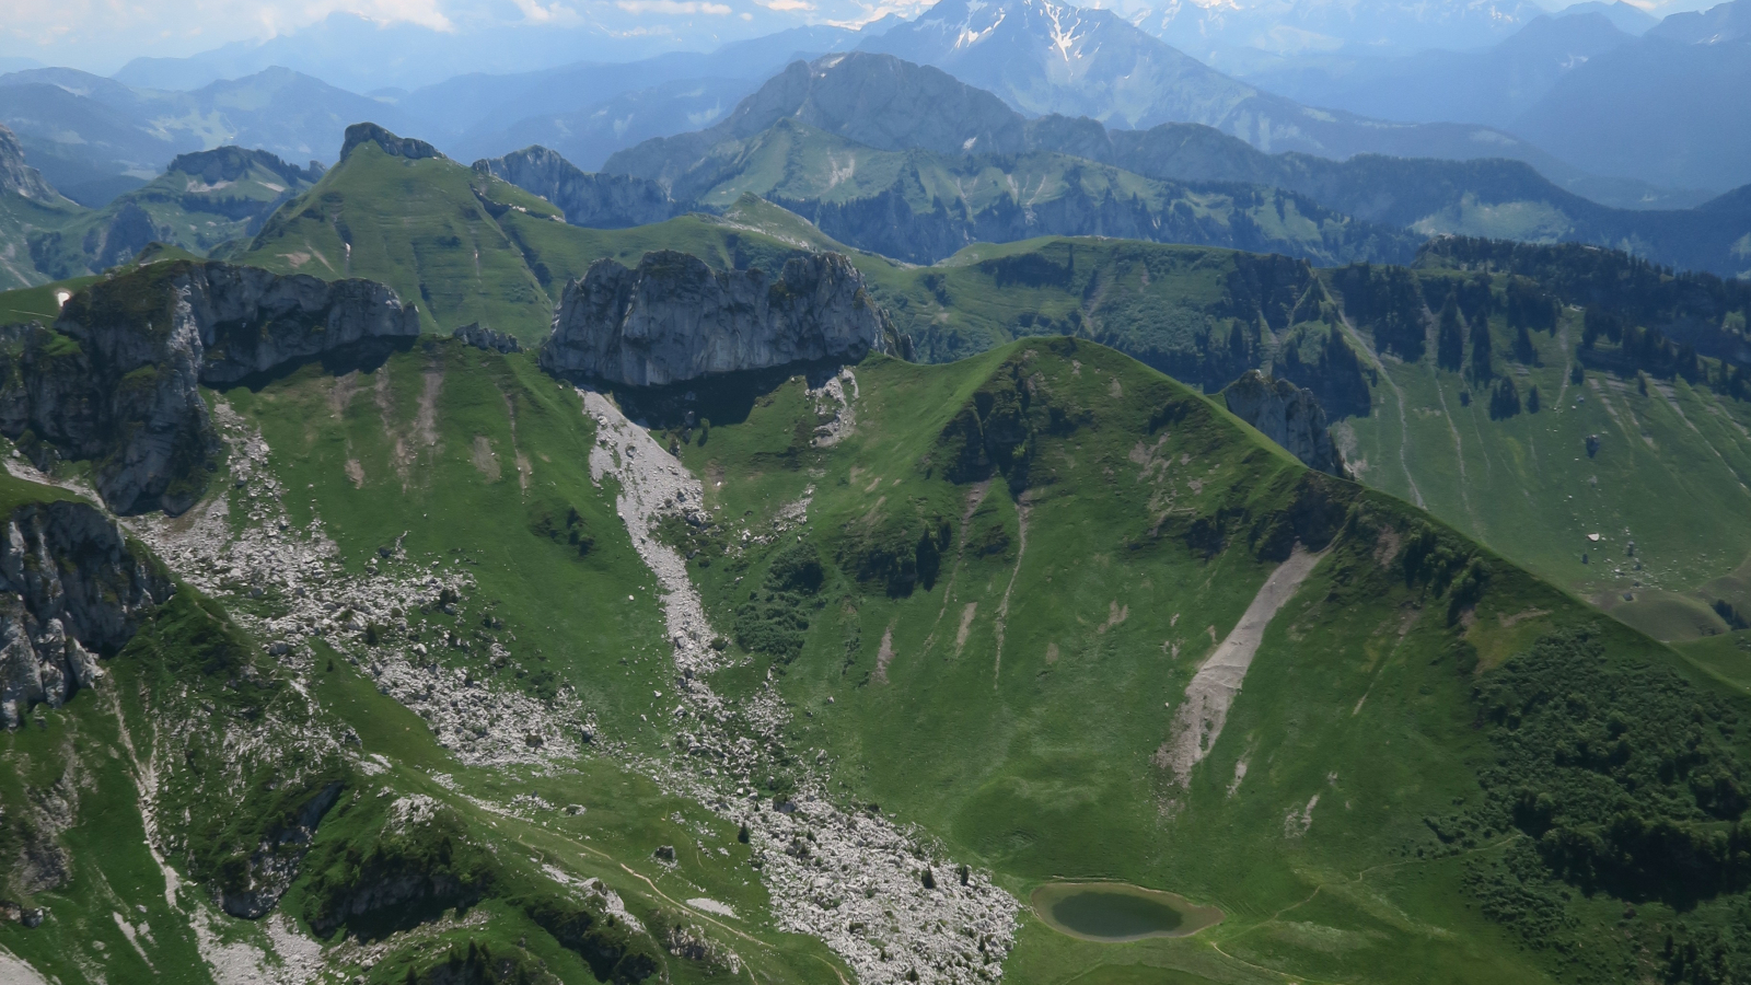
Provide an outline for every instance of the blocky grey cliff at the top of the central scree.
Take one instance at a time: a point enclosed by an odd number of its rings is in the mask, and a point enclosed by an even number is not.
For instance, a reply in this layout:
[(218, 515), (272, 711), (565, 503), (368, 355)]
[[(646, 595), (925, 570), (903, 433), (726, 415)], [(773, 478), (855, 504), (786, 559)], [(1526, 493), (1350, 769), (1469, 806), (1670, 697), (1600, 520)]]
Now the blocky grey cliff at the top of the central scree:
[(835, 252), (798, 256), (776, 279), (714, 272), (683, 252), (636, 270), (599, 259), (566, 287), (541, 366), (566, 377), (664, 386), (739, 370), (888, 351), (886, 312)]

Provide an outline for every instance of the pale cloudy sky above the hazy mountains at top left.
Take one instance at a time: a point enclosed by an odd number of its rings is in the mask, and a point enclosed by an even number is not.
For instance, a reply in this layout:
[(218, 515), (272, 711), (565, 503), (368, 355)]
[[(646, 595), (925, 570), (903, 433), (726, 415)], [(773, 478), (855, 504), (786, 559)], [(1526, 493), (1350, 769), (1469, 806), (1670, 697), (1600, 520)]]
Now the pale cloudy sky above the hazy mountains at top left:
[[(1630, 2), (1656, 16), (1712, 5), (1712, 0)], [(629, 49), (644, 53), (653, 44), (711, 47), (804, 23), (856, 26), (888, 12), (916, 14), (930, 0), (5, 0), (0, 5), (5, 7), (0, 56), (109, 74), (135, 56), (184, 56), (233, 40), (268, 39), (334, 12), (440, 32), (492, 25), (595, 26), (627, 37)]]

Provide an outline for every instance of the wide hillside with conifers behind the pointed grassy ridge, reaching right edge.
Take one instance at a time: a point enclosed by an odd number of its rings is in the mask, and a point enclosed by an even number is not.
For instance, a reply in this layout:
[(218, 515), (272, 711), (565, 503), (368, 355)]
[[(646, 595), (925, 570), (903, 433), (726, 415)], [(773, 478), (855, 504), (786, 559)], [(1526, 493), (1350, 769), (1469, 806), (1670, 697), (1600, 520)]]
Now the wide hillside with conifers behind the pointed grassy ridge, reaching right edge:
[(1732, 627), (1751, 296), (1583, 247), (1445, 244), (1415, 268), (1030, 240), (865, 270), (925, 359), (1072, 333), (1205, 393), (1254, 366), (1294, 380), (1341, 419), (1361, 482), (1656, 636)]

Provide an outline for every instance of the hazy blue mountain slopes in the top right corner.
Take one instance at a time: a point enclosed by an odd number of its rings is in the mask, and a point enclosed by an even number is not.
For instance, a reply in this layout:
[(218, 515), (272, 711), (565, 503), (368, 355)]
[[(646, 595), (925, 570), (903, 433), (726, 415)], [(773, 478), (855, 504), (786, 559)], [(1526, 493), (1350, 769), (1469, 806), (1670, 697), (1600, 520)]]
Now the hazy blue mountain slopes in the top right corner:
[(1742, 98), (1751, 91), (1751, 0), (1672, 14), (1634, 32), (1623, 30), (1623, 21), (1635, 21), (1616, 7), (1569, 11), (1481, 51), (1450, 44), (1399, 58), (1343, 51), (1283, 60), (1245, 77), (1311, 105), (1495, 126), (1595, 174), (1693, 189), (1751, 182)]

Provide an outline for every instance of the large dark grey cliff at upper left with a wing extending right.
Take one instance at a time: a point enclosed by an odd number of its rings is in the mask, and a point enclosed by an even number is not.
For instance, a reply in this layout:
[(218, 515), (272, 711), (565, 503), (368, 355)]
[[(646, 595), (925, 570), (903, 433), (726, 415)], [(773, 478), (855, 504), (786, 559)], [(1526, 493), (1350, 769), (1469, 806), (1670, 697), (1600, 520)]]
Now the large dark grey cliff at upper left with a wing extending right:
[(93, 461), (119, 514), (180, 514), (222, 447), (201, 384), (415, 335), (418, 312), (369, 280), (159, 263), (74, 294), (54, 328), (0, 330), (0, 433), (39, 468)]

